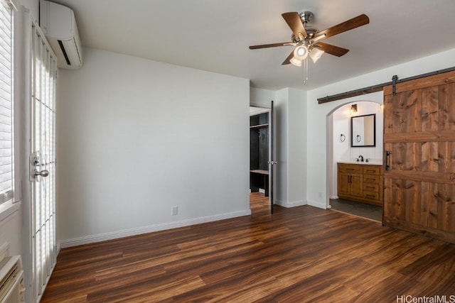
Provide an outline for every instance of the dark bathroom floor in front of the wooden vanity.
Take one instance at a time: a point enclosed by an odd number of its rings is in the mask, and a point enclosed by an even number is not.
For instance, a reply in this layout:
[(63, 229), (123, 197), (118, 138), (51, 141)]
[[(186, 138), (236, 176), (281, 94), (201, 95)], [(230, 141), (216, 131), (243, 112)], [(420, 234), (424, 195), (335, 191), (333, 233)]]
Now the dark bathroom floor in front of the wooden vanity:
[(382, 207), (345, 199), (331, 199), (331, 209), (382, 222)]

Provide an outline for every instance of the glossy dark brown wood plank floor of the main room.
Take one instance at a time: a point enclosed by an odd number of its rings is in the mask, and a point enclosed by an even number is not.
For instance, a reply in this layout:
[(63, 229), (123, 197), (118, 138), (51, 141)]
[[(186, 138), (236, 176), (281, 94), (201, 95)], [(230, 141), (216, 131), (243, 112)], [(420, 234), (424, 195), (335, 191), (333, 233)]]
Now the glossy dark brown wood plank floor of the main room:
[[(337, 211), (252, 216), (60, 251), (41, 302), (397, 302), (455, 295), (455, 245)], [(401, 301), (405, 302), (405, 301)]]

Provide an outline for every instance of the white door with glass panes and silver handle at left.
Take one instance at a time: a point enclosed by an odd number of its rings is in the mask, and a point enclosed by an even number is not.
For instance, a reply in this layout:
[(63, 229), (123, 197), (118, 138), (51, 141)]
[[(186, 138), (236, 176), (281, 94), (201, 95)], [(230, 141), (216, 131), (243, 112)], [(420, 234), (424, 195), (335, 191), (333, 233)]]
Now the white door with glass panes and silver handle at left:
[[(26, 13), (28, 16), (28, 13)], [(28, 19), (28, 18), (26, 18)], [(29, 153), (28, 204), (30, 302), (38, 302), (56, 262), (55, 246), (55, 84), (57, 62), (40, 28), (30, 18), (29, 93), (26, 118)]]

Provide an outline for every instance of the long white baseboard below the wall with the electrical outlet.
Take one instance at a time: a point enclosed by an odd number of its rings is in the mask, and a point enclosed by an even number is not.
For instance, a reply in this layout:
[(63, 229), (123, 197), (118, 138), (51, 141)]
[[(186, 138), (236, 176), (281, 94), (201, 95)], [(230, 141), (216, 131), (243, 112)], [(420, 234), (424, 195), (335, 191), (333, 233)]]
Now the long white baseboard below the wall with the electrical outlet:
[(71, 247), (71, 246), (79, 246), (79, 245), (88, 244), (88, 243), (107, 241), (107, 240), (112, 240), (112, 239), (117, 239), (117, 238), (124, 238), (124, 237), (128, 237), (128, 236), (136, 236), (136, 235), (140, 235), (141, 233), (164, 231), (166, 229), (171, 229), (171, 228), (177, 228), (177, 227), (201, 224), (201, 223), (205, 223), (205, 222), (230, 219), (230, 218), (235, 218), (237, 216), (250, 216), (250, 215), (251, 215), (251, 210), (246, 209), (244, 211), (232, 211), (232, 212), (226, 213), (226, 214), (203, 216), (200, 218), (186, 219), (186, 220), (182, 220), (182, 221), (167, 222), (167, 223), (156, 224), (156, 225), (151, 225), (151, 226), (132, 228), (132, 229), (124, 230), (124, 231), (114, 231), (112, 233), (100, 233), (100, 234), (92, 235), (92, 236), (84, 236), (84, 237), (80, 237), (80, 238), (62, 240), (60, 242), (60, 247), (67, 248), (67, 247)]

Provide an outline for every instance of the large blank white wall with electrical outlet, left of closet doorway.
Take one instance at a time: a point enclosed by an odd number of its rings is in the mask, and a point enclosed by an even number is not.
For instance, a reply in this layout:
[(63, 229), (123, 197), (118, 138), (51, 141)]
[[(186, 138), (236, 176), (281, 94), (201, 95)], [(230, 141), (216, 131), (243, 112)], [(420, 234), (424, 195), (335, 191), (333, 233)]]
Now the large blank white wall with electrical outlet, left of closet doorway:
[(84, 52), (58, 79), (62, 246), (250, 214), (247, 79)]

